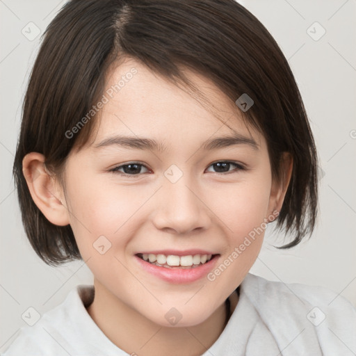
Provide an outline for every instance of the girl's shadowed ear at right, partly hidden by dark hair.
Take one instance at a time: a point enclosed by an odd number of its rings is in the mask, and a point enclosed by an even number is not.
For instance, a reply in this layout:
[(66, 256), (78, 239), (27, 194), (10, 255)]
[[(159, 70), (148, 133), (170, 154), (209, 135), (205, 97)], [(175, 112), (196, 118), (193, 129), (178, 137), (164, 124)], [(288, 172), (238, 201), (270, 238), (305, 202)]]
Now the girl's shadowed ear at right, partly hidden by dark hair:
[[(270, 189), (270, 200), (268, 203), (268, 213), (282, 209), (284, 197), (291, 181), (293, 170), (293, 158), (289, 152), (282, 152), (281, 157), (281, 181), (273, 181)], [(274, 215), (274, 214), (273, 214)]]

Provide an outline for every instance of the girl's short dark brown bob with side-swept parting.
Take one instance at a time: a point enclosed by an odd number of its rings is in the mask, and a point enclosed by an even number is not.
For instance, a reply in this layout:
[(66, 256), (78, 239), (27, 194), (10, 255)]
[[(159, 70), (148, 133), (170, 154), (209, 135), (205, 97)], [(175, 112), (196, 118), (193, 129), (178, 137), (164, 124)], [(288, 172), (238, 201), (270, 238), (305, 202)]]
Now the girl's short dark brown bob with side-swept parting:
[(13, 165), (24, 229), (46, 264), (82, 258), (70, 225), (53, 225), (33, 202), (22, 159), (40, 152), (49, 172), (60, 177), (71, 150), (88, 142), (95, 120), (73, 138), (65, 133), (102, 97), (109, 68), (122, 58), (140, 60), (184, 88), (195, 86), (180, 68), (194, 70), (233, 102), (247, 93), (254, 104), (241, 115), (266, 138), (273, 179), (281, 178), (282, 152), (293, 157), (275, 227), (294, 239), (278, 248), (312, 235), (318, 213), (314, 138), (289, 64), (254, 15), (234, 0), (72, 0), (43, 34)]

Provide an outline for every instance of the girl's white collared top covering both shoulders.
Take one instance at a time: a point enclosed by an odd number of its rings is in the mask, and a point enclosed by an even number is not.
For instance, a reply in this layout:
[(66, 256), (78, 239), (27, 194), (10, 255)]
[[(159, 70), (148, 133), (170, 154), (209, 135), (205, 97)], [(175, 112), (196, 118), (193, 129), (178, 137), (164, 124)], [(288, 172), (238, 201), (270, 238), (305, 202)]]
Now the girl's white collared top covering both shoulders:
[[(94, 286), (81, 284), (20, 333), (2, 356), (127, 356), (88, 314)], [(356, 309), (321, 286), (248, 273), (223, 333), (202, 356), (356, 355)]]

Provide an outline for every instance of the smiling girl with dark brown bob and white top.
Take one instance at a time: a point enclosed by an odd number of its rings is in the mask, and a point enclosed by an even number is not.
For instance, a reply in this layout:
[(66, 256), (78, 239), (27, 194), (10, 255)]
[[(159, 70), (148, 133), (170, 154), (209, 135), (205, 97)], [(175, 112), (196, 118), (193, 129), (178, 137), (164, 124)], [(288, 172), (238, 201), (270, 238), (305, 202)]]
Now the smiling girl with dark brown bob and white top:
[(249, 273), (268, 223), (312, 234), (318, 158), (296, 81), (233, 0), (72, 0), (31, 73), (24, 228), (79, 285), (13, 355), (348, 355), (356, 311)]

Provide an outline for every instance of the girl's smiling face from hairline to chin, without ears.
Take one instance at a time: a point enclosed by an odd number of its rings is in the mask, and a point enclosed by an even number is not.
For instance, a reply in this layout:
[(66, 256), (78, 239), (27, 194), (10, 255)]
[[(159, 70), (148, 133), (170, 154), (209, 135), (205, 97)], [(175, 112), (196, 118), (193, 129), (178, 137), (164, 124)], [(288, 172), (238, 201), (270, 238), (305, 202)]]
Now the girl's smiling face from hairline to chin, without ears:
[[(172, 307), (184, 316), (179, 326), (189, 326), (222, 305), (259, 254), (264, 232), (249, 236), (266, 228), (277, 204), (264, 137), (243, 124), (213, 83), (188, 73), (227, 124), (129, 60), (108, 79), (92, 140), (72, 151), (65, 165), (68, 219), (98, 285), (166, 326)], [(207, 147), (209, 140), (237, 135), (250, 144)], [(118, 136), (158, 147), (130, 146), (128, 139), (120, 145)], [(212, 256), (202, 264), (203, 256), (197, 268), (165, 268), (140, 258), (149, 253), (178, 256), (179, 264), (191, 264), (182, 255)]]

